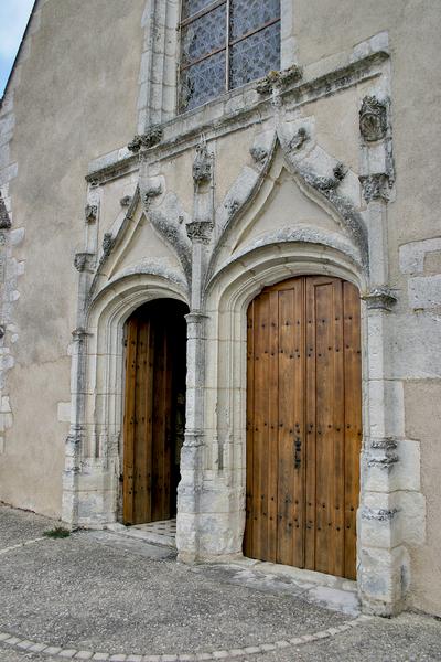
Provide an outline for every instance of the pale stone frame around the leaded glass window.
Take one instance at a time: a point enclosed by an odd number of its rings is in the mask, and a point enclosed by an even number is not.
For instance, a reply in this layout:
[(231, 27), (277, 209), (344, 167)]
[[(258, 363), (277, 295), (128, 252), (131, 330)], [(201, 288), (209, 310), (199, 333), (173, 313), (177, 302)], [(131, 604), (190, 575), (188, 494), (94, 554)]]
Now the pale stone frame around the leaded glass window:
[[(179, 113), (180, 8), (181, 0), (146, 2), (141, 21), (144, 39), (138, 81), (138, 134), (176, 117), (184, 119), (189, 114), (202, 114), (207, 105), (223, 103), (228, 97), (240, 97), (244, 89), (256, 86), (255, 81), (247, 83), (202, 106)], [(293, 11), (292, 0), (280, 0), (281, 70), (298, 64)]]

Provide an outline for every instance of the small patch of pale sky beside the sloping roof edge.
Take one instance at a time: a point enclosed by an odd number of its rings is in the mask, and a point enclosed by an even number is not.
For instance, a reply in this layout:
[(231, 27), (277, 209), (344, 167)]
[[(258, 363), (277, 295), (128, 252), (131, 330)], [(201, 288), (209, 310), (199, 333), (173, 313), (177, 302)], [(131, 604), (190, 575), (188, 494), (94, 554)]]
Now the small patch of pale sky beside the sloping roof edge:
[(34, 0), (0, 0), (0, 96), (3, 94)]

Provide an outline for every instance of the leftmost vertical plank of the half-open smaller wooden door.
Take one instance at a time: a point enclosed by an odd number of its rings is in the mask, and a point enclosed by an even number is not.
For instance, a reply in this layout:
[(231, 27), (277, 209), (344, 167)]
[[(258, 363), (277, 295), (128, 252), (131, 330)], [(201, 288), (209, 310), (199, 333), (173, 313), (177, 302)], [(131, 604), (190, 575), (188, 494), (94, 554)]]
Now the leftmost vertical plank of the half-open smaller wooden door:
[(136, 433), (135, 384), (138, 324), (128, 322), (126, 348), (126, 402), (123, 426), (122, 517), (125, 524), (133, 523), (133, 444)]

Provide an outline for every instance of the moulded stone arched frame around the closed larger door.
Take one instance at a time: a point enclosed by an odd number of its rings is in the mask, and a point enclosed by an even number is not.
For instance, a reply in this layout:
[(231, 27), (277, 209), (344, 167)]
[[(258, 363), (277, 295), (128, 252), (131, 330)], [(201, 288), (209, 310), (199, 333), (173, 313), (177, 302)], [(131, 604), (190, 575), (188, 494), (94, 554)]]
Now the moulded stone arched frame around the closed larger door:
[[(197, 554), (198, 558), (241, 555), (246, 492), (246, 313), (250, 301), (265, 287), (309, 275), (342, 278), (361, 292), (364, 436), (357, 512), (357, 587), (364, 608), (389, 615), (401, 608), (410, 566), (406, 528), (401, 528), (406, 504), (401, 510), (396, 492), (399, 470), (397, 476), (394, 467), (398, 461), (395, 448), (402, 434), (399, 425), (404, 401), (396, 383), (388, 377), (384, 359), (391, 298), (381, 288), (372, 286), (367, 269), (351, 250), (346, 253), (342, 244), (333, 244), (320, 231), (313, 242), (286, 241), (239, 254), (219, 270), (207, 290), (205, 427), (214, 430), (214, 437), (206, 445), (205, 466), (208, 474), (218, 476), (219, 480), (216, 493), (211, 494), (207, 487), (204, 510), (197, 520), (203, 527), (209, 517), (217, 543), (214, 545), (204, 537), (190, 544), (182, 536), (180, 555), (183, 558), (191, 554), (193, 557)], [(415, 471), (418, 473), (419, 468)], [(190, 521), (191, 516), (189, 511), (185, 517)], [(315, 580), (324, 583), (329, 577), (314, 575)]]

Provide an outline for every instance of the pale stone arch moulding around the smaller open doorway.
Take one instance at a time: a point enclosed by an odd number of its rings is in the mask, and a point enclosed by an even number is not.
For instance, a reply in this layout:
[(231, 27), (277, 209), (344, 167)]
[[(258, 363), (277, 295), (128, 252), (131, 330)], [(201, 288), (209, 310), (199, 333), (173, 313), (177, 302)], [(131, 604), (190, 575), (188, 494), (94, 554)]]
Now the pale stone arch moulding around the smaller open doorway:
[[(186, 284), (163, 275), (126, 274), (92, 302), (72, 343), (72, 423), (63, 477), (63, 520), (103, 526), (118, 511), (123, 397), (123, 327), (153, 299), (187, 303)], [(87, 329), (87, 331), (86, 331)]]

